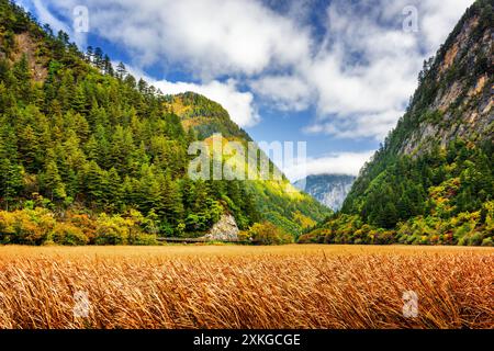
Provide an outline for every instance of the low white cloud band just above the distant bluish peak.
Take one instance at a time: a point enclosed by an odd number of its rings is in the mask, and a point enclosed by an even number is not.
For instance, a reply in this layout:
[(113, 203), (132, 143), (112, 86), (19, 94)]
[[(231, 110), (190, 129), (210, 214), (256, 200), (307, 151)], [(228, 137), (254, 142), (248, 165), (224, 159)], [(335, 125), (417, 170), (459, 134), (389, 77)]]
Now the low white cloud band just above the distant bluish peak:
[(370, 160), (373, 154), (373, 150), (362, 152), (334, 152), (323, 157), (295, 161), (292, 167), (283, 168), (283, 172), (292, 182), (312, 174), (358, 176), (362, 166)]

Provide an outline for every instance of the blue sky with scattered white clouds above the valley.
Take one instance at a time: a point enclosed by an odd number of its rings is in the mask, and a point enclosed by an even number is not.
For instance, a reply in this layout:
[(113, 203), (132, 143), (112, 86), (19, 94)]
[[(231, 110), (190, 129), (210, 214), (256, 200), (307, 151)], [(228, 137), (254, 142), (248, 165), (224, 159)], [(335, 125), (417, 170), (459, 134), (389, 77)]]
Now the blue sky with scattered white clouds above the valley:
[(308, 173), (356, 174), (473, 0), (16, 2), (165, 93), (222, 103), (255, 140), (307, 141)]

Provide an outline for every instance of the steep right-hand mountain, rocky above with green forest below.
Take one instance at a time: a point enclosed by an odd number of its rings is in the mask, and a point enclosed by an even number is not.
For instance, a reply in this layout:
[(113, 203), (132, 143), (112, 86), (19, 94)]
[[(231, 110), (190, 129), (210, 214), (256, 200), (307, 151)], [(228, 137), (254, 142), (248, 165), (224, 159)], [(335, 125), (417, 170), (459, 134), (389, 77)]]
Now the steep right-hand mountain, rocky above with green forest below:
[(304, 240), (493, 244), (493, 1), (478, 0), (424, 64), (341, 213)]

